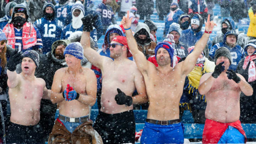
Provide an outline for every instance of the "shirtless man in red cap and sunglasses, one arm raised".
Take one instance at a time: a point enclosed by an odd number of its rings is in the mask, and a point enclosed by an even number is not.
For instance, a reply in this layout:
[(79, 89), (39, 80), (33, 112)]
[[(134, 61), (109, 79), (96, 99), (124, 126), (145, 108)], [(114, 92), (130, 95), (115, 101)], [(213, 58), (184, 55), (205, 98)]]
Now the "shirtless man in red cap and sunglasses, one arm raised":
[[(91, 21), (92, 19), (92, 21)], [(110, 57), (102, 56), (90, 48), (89, 32), (95, 18), (82, 18), (84, 32), (81, 44), (85, 57), (102, 72), (101, 110), (94, 129), (100, 133), (104, 144), (135, 142), (135, 119), (133, 105), (148, 102), (143, 76), (136, 64), (127, 57), (132, 56), (126, 37), (116, 36), (110, 46)], [(137, 96), (131, 97), (135, 89)]]

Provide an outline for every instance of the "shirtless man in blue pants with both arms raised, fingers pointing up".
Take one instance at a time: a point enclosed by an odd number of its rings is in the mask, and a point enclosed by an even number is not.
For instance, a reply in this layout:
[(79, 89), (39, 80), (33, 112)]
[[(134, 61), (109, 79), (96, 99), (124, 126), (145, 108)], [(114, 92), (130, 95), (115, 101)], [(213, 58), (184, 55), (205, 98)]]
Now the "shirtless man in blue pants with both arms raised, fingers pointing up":
[[(146, 60), (130, 29), (131, 20), (129, 11), (123, 17), (121, 24), (126, 30), (128, 46), (133, 54), (138, 69), (142, 72), (149, 98), (148, 116), (140, 140), (141, 144), (176, 143), (183, 144), (184, 136), (179, 119), (179, 102), (183, 91), (186, 76), (192, 71), (197, 58), (203, 51), (210, 32), (213, 30), (213, 21), (210, 15), (206, 23), (206, 32), (199, 39), (194, 50), (187, 58), (171, 67), (173, 48), (168, 42), (160, 42), (155, 48), (156, 67)], [(165, 125), (165, 126), (162, 126)]]

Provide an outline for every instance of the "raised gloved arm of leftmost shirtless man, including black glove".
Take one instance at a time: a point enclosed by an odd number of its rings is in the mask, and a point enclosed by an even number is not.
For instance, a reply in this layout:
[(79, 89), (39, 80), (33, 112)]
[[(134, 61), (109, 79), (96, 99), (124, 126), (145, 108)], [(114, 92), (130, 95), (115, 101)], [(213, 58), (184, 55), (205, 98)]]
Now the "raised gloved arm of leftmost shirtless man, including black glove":
[(21, 63), (22, 60), (22, 52), (18, 52), (18, 49), (15, 49), (10, 56), (10, 59), (7, 63), (7, 85), (9, 88), (15, 88), (19, 81), (20, 76), (16, 73), (16, 65)]

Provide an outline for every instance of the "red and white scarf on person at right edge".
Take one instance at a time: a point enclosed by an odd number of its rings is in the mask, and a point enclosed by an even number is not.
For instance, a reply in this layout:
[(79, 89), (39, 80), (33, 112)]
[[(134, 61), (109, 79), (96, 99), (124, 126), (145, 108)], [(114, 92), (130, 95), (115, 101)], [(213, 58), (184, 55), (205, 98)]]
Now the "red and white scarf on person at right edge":
[(255, 63), (254, 63), (254, 59), (256, 59), (256, 54), (251, 55), (251, 56), (247, 56), (245, 58), (244, 61), (244, 65), (242, 66), (242, 68), (245, 70), (247, 68), (247, 65), (250, 63), (249, 69), (248, 69), (248, 82), (252, 82), (256, 80), (256, 69), (255, 69)]

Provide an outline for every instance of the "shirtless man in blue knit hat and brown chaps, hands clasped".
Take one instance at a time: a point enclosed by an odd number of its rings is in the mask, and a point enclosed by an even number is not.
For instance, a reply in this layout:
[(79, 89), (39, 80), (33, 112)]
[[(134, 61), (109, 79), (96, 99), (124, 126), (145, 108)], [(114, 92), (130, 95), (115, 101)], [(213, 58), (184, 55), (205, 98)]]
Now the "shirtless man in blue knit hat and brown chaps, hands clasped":
[(84, 54), (79, 42), (68, 44), (63, 54), (68, 67), (58, 69), (53, 77), (51, 101), (58, 103), (59, 117), (48, 143), (94, 144), (96, 139), (102, 143), (89, 120), (89, 106), (96, 102), (96, 76), (81, 66)]

